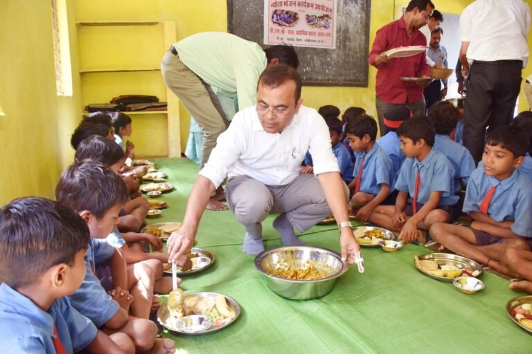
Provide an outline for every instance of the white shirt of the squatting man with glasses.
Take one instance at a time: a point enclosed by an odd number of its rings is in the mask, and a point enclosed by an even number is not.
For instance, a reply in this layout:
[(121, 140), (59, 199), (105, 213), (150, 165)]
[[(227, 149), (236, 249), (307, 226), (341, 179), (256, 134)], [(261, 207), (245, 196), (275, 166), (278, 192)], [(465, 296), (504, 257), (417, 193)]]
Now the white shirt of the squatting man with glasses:
[(236, 113), (216, 142), (209, 161), (199, 174), (218, 187), (226, 176), (249, 176), (264, 185), (287, 185), (299, 175), (310, 151), (314, 175), (338, 172), (329, 129), (315, 109), (299, 108), (281, 133), (267, 133), (255, 106)]

